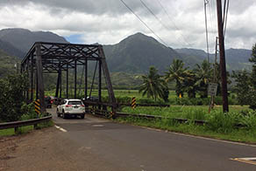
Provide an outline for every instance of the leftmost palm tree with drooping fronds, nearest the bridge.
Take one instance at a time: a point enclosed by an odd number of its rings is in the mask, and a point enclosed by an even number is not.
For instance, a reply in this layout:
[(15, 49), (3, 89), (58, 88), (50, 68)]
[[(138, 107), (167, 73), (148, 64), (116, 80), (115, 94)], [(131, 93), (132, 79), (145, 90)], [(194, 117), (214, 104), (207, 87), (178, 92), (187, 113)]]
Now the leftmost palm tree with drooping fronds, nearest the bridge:
[(165, 81), (161, 79), (157, 72), (158, 70), (151, 66), (149, 73), (142, 76), (143, 83), (139, 89), (139, 92), (142, 92), (142, 96), (146, 95), (148, 98), (153, 97), (154, 101), (159, 97), (163, 98), (164, 91), (167, 89)]

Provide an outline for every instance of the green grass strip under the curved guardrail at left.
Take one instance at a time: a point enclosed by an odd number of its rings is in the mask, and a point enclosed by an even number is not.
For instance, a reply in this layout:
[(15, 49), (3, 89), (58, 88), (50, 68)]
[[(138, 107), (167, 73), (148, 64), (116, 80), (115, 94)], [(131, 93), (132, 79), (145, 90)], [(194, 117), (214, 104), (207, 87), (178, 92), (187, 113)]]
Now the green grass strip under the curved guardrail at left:
[[(52, 126), (53, 126), (53, 121), (51, 120), (49, 122), (40, 123), (38, 125), (38, 128), (41, 129), (43, 127), (52, 127)], [(18, 127), (18, 134), (29, 133), (32, 130), (33, 130), (33, 126)], [(15, 135), (14, 128), (0, 130), (0, 137), (11, 136), (11, 135)]]

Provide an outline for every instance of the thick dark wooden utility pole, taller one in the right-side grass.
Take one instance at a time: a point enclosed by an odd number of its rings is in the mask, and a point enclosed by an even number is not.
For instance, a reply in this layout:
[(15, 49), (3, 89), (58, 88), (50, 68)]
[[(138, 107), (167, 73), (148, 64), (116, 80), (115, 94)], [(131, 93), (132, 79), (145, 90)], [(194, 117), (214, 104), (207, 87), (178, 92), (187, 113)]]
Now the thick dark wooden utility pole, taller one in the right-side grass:
[(219, 41), (219, 65), (221, 70), (221, 85), (223, 97), (223, 112), (229, 112), (228, 92), (227, 92), (227, 76), (226, 76), (226, 62), (224, 52), (224, 21), (222, 17), (222, 1), (217, 0), (217, 25), (218, 25), (218, 41)]

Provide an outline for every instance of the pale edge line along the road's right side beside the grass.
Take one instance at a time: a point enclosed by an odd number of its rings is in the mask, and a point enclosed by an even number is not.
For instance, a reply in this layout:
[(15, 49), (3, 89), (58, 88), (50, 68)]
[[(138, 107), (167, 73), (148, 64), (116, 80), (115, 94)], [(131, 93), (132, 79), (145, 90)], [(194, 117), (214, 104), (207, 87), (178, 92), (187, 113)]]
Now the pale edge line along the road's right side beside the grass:
[(178, 134), (178, 135), (181, 135), (181, 136), (187, 136), (187, 137), (192, 137), (192, 138), (196, 138), (196, 139), (213, 140), (213, 141), (217, 141), (217, 142), (224, 142), (224, 143), (235, 144), (235, 145), (240, 145), (240, 146), (256, 147), (256, 145), (245, 144), (245, 143), (242, 143), (242, 142), (234, 142), (234, 141), (229, 141), (229, 140), (217, 140), (217, 139), (212, 139), (212, 138), (207, 138), (207, 137), (196, 136), (196, 135), (192, 135), (192, 134), (175, 133), (175, 132), (156, 129), (156, 128), (152, 128), (152, 127), (144, 127), (144, 128), (149, 129), (149, 130), (153, 130), (153, 131), (158, 131), (158, 132), (174, 133), (174, 134)]

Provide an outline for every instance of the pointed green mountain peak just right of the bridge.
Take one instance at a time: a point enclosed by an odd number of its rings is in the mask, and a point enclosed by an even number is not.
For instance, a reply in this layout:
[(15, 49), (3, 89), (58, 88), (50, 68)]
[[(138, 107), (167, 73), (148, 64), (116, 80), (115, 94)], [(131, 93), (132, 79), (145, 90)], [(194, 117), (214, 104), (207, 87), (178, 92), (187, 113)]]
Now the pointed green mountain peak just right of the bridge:
[(110, 72), (145, 73), (154, 65), (165, 71), (174, 58), (181, 58), (172, 48), (142, 33), (124, 38), (120, 43), (103, 46)]

